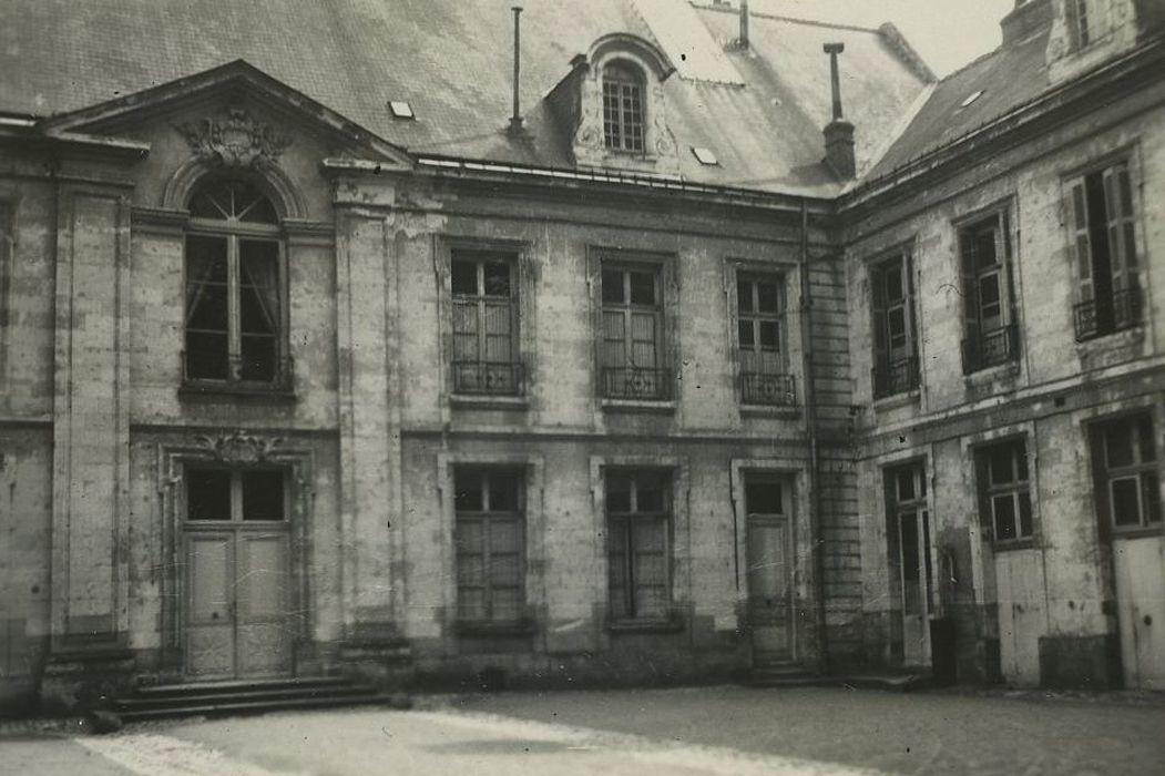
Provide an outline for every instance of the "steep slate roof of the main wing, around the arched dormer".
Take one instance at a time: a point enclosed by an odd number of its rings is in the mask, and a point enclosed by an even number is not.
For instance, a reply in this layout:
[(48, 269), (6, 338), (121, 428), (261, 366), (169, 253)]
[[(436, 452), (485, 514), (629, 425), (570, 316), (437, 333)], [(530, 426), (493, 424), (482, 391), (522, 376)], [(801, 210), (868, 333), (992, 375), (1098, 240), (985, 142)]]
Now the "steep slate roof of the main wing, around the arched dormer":
[[(56, 115), (245, 59), (410, 151), (566, 167), (569, 137), (555, 126), (543, 98), (567, 73), (573, 56), (616, 31), (672, 49), (708, 40), (723, 47), (737, 35), (735, 9), (698, 2), (683, 10), (709, 35), (692, 43), (676, 30), (654, 34), (647, 17), (659, 27), (651, 8), (658, 0), (528, 0), (522, 105), (534, 140), (513, 141), (502, 132), (511, 101), (511, 5), (5, 0), (0, 112)], [(821, 127), (829, 119), (826, 41), (846, 44), (842, 92), (846, 118), (857, 127), (860, 170), (925, 86), (924, 76), (877, 30), (754, 14), (751, 40), (750, 51), (723, 49), (743, 86), (683, 72), (664, 84), (687, 179), (835, 193), (840, 184), (821, 164)], [(684, 51), (668, 54), (676, 58)], [(696, 54), (712, 63), (701, 66), (725, 64), (719, 51)], [(417, 120), (394, 120), (388, 100), (410, 101)], [(711, 148), (720, 164), (699, 164), (692, 146)]]

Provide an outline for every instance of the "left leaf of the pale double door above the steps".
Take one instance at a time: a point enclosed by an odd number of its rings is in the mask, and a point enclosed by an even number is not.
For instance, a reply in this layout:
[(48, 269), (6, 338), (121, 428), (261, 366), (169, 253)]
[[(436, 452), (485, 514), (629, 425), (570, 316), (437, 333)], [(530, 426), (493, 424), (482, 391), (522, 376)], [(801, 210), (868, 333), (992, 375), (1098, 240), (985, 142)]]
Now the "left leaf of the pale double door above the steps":
[(231, 534), (186, 535), (186, 671), (233, 676), (234, 557)]

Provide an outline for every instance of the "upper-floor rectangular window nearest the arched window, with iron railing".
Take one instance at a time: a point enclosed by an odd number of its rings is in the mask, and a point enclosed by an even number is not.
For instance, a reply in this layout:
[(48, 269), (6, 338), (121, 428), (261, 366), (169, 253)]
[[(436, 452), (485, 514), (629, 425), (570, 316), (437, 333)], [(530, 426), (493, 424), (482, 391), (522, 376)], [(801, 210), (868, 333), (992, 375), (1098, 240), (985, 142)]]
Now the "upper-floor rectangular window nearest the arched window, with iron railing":
[(453, 391), (516, 396), (518, 359), (516, 260), (494, 251), (454, 251)]

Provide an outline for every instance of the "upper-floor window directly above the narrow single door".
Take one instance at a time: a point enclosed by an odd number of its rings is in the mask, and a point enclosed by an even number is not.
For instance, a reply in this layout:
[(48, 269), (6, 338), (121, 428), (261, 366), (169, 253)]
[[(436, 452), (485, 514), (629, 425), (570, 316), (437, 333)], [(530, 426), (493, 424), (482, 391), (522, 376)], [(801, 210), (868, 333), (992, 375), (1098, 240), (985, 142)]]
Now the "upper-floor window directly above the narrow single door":
[(741, 400), (746, 404), (795, 404), (784, 353), (784, 278), (774, 274), (736, 277), (736, 347)]

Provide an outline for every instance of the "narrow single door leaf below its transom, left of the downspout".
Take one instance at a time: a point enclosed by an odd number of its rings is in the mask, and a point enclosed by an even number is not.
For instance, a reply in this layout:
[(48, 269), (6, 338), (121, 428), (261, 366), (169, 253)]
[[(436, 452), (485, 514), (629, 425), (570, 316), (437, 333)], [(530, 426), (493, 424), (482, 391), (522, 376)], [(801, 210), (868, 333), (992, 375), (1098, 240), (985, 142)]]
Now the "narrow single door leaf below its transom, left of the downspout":
[(748, 523), (748, 609), (754, 659), (790, 657), (792, 564), (789, 522), (750, 518)]

